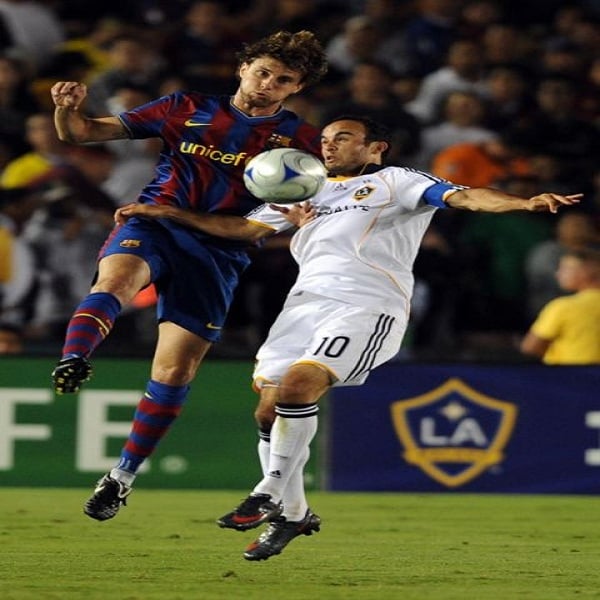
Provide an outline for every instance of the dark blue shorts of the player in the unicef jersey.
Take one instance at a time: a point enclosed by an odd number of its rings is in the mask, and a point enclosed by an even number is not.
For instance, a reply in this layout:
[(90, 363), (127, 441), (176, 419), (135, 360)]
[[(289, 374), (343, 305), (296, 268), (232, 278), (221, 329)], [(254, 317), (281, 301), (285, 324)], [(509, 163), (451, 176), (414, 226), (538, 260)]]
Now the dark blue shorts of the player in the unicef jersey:
[(134, 254), (145, 260), (158, 293), (159, 322), (216, 342), (240, 275), (250, 264), (245, 250), (217, 244), (169, 221), (133, 218), (112, 231), (99, 258)]

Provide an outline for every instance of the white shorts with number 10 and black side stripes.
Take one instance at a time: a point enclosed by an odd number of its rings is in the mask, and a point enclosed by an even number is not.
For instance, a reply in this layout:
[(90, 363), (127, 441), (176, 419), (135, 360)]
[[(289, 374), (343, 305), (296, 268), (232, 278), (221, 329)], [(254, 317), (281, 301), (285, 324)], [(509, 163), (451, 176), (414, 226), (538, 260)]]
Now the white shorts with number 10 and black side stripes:
[(407, 318), (307, 292), (287, 299), (259, 348), (254, 385), (279, 383), (296, 363), (323, 366), (333, 385), (362, 385), (400, 350)]

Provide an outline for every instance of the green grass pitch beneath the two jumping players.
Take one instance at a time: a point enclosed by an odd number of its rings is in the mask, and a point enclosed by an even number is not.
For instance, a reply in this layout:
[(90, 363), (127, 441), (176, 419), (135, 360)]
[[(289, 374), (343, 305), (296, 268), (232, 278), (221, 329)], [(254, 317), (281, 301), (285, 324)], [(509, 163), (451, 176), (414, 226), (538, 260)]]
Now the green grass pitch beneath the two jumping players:
[(311, 493), (323, 527), (252, 563), (245, 492), (138, 488), (113, 520), (88, 489), (0, 488), (3, 600), (600, 598), (594, 497)]

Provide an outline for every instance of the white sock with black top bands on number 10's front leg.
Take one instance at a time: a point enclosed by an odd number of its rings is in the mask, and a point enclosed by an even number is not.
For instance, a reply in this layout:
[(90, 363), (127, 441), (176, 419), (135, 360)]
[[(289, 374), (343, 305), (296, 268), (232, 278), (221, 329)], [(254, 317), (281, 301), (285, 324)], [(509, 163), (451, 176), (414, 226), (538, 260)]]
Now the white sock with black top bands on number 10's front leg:
[[(269, 494), (274, 502), (283, 498), (296, 468), (307, 459), (308, 447), (317, 432), (317, 412), (316, 403), (276, 406), (277, 418), (271, 430), (269, 472), (253, 493)], [(294, 485), (297, 486), (298, 482)]]

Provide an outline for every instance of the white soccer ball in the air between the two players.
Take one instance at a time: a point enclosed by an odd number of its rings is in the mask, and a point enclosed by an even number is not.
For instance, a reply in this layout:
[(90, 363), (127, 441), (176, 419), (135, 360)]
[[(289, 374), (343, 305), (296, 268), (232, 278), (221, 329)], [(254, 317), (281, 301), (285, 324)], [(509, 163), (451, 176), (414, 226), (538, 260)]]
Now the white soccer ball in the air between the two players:
[(253, 157), (244, 169), (246, 189), (264, 202), (292, 204), (314, 196), (327, 171), (312, 154), (295, 148), (274, 148)]

